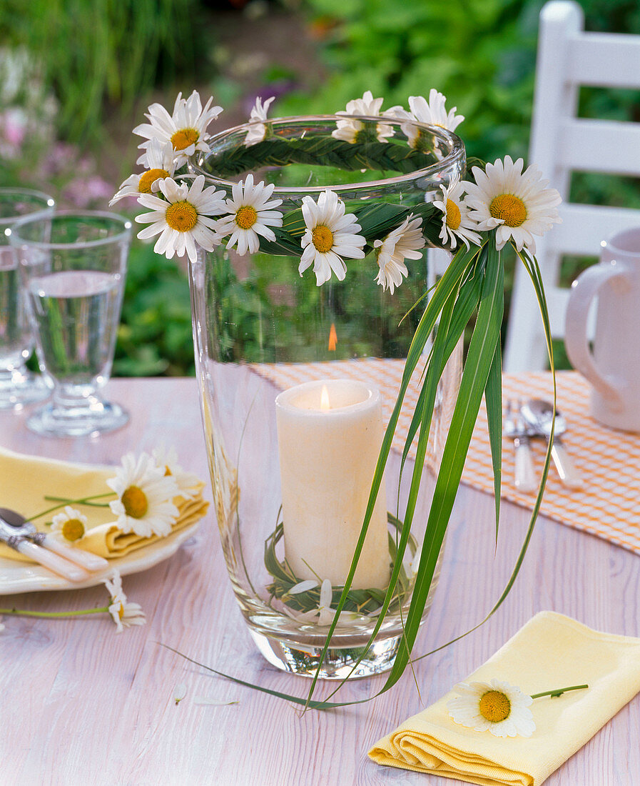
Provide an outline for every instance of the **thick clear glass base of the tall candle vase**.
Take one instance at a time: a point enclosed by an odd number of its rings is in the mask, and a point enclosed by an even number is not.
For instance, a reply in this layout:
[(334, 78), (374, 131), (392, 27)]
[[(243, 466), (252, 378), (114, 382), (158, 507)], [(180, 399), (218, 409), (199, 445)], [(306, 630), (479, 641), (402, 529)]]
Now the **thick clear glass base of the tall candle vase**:
[[(315, 677), (322, 655), (322, 648), (308, 647), (259, 634), (249, 629), (262, 656), (278, 669), (302, 677)], [(369, 648), (345, 647), (329, 648), (320, 668), (320, 679), (343, 680), (362, 679), (382, 674), (393, 666), (400, 647), (401, 636), (378, 639)], [(362, 653), (364, 658), (357, 664)]]

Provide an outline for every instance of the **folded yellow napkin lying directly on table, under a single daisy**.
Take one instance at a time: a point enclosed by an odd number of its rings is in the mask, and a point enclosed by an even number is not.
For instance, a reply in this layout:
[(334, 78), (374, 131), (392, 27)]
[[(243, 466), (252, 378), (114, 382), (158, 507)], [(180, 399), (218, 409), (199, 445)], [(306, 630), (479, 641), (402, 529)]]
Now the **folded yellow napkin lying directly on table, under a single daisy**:
[(492, 678), (533, 694), (587, 683), (587, 690), (543, 696), (530, 709), (531, 737), (501, 738), (449, 718), (449, 692), (371, 748), (379, 764), (473, 784), (539, 786), (640, 691), (640, 638), (591, 630), (540, 612), (465, 682)]

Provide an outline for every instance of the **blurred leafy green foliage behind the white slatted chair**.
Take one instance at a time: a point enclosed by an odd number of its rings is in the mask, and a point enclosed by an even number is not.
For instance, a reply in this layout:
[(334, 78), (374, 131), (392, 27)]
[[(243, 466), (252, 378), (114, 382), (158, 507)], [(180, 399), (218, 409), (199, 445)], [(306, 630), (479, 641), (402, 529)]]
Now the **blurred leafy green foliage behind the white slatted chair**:
[[(447, 96), (447, 108), (457, 106), (465, 116), (459, 132), (468, 156), (492, 161), (508, 153), (527, 161), (543, 5), (544, 0), (305, 0), (309, 19), (327, 31), (323, 54), (329, 76), (313, 96), (281, 101), (278, 112), (332, 111), (364, 90), (383, 96), (383, 108), (407, 107), (408, 96), (428, 95), (435, 87)], [(586, 30), (640, 34), (637, 0), (580, 0), (580, 6)], [(585, 89), (580, 115), (638, 122), (640, 96), (634, 90)], [(576, 173), (570, 198), (640, 208), (640, 182)], [(505, 256), (503, 335), (516, 263), (514, 255)], [(594, 261), (566, 259), (565, 283)], [(555, 354), (558, 367), (567, 367), (562, 342)]]

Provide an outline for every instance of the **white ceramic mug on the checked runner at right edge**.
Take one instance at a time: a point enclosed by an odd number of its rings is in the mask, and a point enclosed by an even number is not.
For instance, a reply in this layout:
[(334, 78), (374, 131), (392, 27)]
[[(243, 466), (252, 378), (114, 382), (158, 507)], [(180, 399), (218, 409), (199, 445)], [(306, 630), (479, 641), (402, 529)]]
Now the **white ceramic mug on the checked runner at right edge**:
[[(598, 296), (593, 352), (587, 336)], [(600, 263), (573, 282), (565, 347), (591, 382), (591, 415), (606, 426), (640, 432), (640, 227), (602, 243)]]

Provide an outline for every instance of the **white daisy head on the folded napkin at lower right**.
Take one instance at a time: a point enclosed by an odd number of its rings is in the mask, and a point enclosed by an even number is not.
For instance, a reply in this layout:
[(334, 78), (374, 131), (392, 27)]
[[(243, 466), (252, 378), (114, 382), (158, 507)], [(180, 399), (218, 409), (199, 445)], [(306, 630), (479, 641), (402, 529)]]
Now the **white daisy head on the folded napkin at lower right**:
[(477, 732), (490, 731), (495, 736), (531, 736), (536, 731), (531, 696), (515, 685), (492, 680), (461, 682), (454, 690), (459, 694), (448, 700), (449, 716)]

